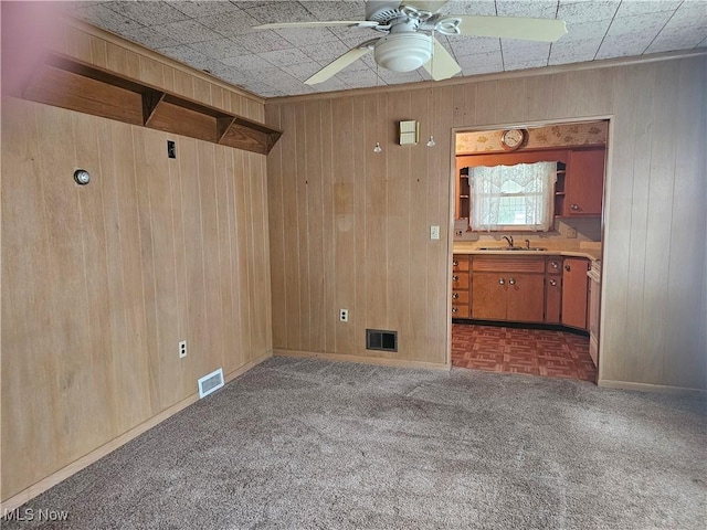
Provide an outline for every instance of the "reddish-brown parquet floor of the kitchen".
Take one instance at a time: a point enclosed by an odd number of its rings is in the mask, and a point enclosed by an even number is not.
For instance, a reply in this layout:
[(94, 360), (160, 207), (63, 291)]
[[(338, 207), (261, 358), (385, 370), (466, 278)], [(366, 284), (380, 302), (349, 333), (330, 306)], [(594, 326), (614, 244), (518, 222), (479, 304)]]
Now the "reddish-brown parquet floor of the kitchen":
[(453, 324), (452, 365), (597, 381), (589, 338), (566, 331)]

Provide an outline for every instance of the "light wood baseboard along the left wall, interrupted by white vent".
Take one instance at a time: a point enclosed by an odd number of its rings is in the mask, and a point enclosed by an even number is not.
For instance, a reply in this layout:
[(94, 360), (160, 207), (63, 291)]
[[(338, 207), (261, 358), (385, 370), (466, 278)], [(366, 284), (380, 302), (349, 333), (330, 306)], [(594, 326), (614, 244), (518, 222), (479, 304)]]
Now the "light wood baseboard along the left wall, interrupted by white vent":
[[(256, 367), (261, 362), (270, 359), (271, 357), (273, 357), (272, 350), (267, 351), (265, 354), (263, 354), (263, 356), (261, 356), (261, 357), (258, 357), (258, 358), (256, 358), (256, 359), (254, 359), (254, 360), (252, 360), (250, 362), (246, 362), (242, 367), (236, 368), (235, 370), (229, 372), (224, 377), (225, 382), (230, 382), (230, 381), (234, 380), (239, 375), (242, 375), (243, 373), (247, 372), (249, 370), (251, 370), (252, 368)], [(104, 456), (106, 456), (107, 454), (113, 453), (118, 447), (127, 444), (131, 439), (138, 437), (140, 434), (149, 431), (150, 428), (152, 428), (156, 425), (160, 424), (161, 422), (163, 422), (168, 417), (173, 416), (179, 411), (182, 411), (183, 409), (187, 409), (189, 405), (196, 403), (197, 401), (199, 401), (199, 392), (194, 392), (193, 394), (189, 395), (188, 398), (184, 398), (183, 400), (179, 401), (178, 403), (175, 403), (170, 407), (165, 409), (159, 414), (150, 417), (149, 420), (146, 420), (145, 422), (140, 423), (139, 425), (136, 425), (135, 427), (133, 427), (129, 431), (123, 433), (118, 437), (113, 438), (110, 442), (102, 445), (101, 447), (95, 448), (94, 451), (92, 451), (87, 455), (82, 456), (77, 460), (72, 462), (71, 464), (68, 464), (67, 466), (59, 469), (57, 471), (54, 471), (50, 476), (41, 479), (39, 483), (35, 483), (32, 486), (23, 489), (19, 494), (13, 495), (9, 499), (3, 500), (0, 504), (0, 513), (7, 513), (8, 511), (12, 511), (12, 510), (21, 507), (25, 502), (32, 500), (38, 495), (43, 494), (48, 489), (56, 486), (62, 480), (65, 480), (66, 478), (71, 477), (72, 475), (74, 475), (74, 474), (81, 471), (82, 469), (88, 467), (94, 462), (97, 462), (101, 458), (103, 458)]]

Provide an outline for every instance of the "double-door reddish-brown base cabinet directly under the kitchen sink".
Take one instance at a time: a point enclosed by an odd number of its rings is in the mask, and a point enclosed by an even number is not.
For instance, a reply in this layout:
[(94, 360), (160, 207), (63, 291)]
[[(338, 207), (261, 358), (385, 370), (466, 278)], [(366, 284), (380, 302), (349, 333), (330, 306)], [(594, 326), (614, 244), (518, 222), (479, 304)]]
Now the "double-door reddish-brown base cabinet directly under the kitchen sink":
[(472, 318), (542, 321), (545, 257), (475, 256), (472, 285)]

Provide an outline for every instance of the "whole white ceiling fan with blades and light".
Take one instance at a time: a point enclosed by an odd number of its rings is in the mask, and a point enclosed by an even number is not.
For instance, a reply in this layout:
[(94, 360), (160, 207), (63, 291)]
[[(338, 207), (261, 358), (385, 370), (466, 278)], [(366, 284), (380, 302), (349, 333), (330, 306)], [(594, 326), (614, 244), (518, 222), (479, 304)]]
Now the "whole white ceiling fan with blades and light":
[(423, 66), (434, 81), (447, 80), (462, 71), (454, 57), (434, 36), (468, 35), (553, 42), (567, 33), (564, 21), (523, 17), (476, 17), (443, 14), (446, 0), (374, 0), (366, 3), (366, 20), (284, 22), (255, 29), (355, 26), (370, 28), (383, 36), (362, 42), (336, 59), (305, 84), (316, 85), (338, 74), (352, 62), (373, 52), (376, 63), (393, 72), (411, 72)]

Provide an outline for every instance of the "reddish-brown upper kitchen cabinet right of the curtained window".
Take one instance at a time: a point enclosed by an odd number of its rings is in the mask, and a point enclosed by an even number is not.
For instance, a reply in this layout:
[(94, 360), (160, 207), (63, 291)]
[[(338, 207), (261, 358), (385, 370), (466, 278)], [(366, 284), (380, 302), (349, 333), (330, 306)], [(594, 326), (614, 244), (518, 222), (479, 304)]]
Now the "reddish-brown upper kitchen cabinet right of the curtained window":
[(604, 194), (604, 148), (573, 149), (564, 174), (558, 171), (555, 214), (558, 216), (601, 215)]

